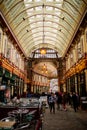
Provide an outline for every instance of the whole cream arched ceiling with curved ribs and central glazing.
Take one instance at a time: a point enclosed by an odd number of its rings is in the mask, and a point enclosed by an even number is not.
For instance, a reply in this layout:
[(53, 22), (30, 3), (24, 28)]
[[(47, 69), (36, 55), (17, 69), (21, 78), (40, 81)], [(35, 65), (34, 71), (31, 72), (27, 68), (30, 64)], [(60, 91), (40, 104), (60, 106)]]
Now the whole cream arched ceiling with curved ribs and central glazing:
[(87, 0), (3, 0), (0, 9), (27, 57), (41, 47), (64, 56)]

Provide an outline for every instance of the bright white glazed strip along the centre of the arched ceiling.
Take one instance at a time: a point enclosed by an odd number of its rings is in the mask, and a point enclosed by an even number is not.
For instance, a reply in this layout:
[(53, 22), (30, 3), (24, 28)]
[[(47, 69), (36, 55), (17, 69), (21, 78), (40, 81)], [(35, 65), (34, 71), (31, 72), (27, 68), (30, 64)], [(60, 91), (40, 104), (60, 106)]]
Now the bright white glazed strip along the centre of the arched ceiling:
[[(33, 1), (35, 1), (37, 4), (39, 2), (43, 2), (43, 3), (40, 6), (37, 6), (35, 8), (32, 7), (29, 9), (30, 2), (33, 2)], [(30, 24), (30, 28), (31, 29), (34, 28), (34, 30), (32, 30), (33, 41), (34, 42), (36, 41), (39, 34), (42, 35), (42, 39), (43, 39), (42, 32), (44, 31), (44, 34), (45, 34), (44, 41), (45, 42), (52, 42), (52, 39), (53, 39), (55, 42), (57, 39), (57, 32), (58, 32), (57, 31), (57, 28), (58, 28), (57, 23), (59, 21), (59, 18), (57, 16), (59, 16), (61, 14), (61, 10), (59, 10), (59, 8), (62, 7), (63, 0), (59, 0), (59, 1), (56, 0), (55, 5), (58, 6), (58, 8), (55, 8), (52, 6), (47, 6), (46, 3), (44, 3), (44, 2), (45, 1), (43, 1), (43, 0), (32, 0), (32, 1), (24, 0), (25, 7), (28, 8), (28, 10), (27, 10), (27, 15), (29, 17), (28, 20), (30, 23), (33, 23), (33, 24)], [(46, 2), (52, 3), (53, 0), (46, 0)], [(29, 4), (29, 7), (28, 7), (28, 4)], [(37, 13), (37, 11), (40, 11), (40, 13)], [(32, 15), (32, 17), (30, 17), (31, 15)], [(50, 31), (49, 33), (47, 33), (48, 30)], [(40, 33), (36, 33), (37, 31), (40, 31)], [(55, 32), (55, 34), (52, 34), (52, 32)], [(55, 39), (52, 36), (55, 36)], [(43, 43), (43, 40), (42, 40), (42, 43)]]

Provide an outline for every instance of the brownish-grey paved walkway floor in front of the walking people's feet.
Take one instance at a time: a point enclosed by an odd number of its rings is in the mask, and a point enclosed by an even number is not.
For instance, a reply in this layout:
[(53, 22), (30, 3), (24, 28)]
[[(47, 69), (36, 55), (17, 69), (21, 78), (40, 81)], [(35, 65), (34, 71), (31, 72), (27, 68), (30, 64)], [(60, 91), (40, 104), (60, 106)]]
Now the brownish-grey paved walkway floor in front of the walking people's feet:
[(67, 111), (56, 110), (50, 114), (46, 109), (43, 130), (87, 130), (87, 111), (74, 110), (68, 106)]

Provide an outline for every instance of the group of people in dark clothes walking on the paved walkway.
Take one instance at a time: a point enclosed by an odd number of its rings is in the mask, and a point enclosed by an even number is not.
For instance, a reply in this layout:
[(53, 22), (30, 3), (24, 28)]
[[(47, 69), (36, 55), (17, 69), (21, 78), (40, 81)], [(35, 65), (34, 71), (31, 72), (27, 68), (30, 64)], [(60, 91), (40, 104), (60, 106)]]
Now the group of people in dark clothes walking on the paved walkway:
[(78, 110), (80, 105), (80, 97), (77, 93), (66, 93), (66, 92), (56, 92), (49, 93), (47, 96), (47, 101), (50, 109), (50, 113), (55, 113), (55, 104), (57, 106), (57, 110), (67, 111), (67, 104), (73, 107), (74, 111)]

